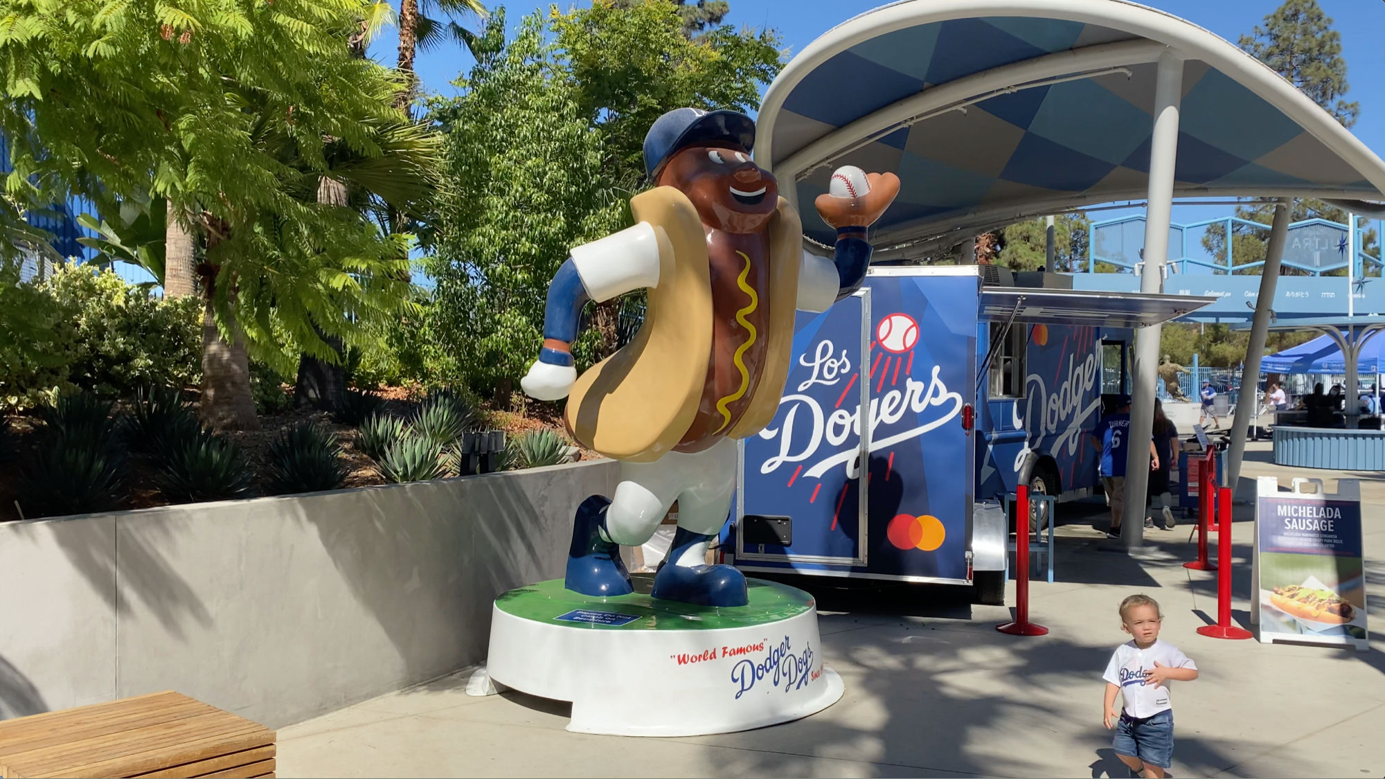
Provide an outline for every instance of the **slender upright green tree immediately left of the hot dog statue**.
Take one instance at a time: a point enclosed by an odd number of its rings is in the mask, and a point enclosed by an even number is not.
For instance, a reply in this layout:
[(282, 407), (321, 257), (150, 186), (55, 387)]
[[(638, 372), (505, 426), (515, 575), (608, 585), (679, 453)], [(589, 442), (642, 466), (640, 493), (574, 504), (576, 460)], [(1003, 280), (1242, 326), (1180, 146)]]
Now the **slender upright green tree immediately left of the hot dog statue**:
[(507, 401), (543, 340), (548, 281), (571, 247), (618, 226), (625, 202), (542, 17), (525, 17), (510, 43), (504, 21), (500, 8), (481, 33), (476, 65), (456, 82), (463, 94), (431, 103), (446, 186), (429, 313), (453, 347), (440, 378)]

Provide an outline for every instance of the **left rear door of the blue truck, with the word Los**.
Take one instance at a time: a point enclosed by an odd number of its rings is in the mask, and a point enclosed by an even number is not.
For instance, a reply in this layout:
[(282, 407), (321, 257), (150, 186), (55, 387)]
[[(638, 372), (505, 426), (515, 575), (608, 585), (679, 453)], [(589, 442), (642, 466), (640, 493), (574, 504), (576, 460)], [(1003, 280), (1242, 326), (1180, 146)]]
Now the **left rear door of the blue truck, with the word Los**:
[(866, 564), (859, 463), (870, 438), (866, 323), (860, 290), (823, 313), (799, 312), (778, 413), (741, 446), (737, 564)]

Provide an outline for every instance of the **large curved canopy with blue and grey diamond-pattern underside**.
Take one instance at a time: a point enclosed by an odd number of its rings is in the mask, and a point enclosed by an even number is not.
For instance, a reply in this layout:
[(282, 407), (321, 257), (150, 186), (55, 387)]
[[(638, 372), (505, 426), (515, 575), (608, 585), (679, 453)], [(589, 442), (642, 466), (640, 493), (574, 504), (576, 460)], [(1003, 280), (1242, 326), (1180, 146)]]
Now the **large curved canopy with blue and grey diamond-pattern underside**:
[[(1145, 197), (1156, 61), (1183, 60), (1174, 197), (1385, 200), (1385, 162), (1222, 37), (1123, 0), (904, 0), (809, 44), (766, 93), (755, 152), (803, 230), (831, 172), (892, 170), (882, 256)], [(796, 186), (789, 186), (796, 182)], [(904, 245), (913, 244), (913, 247)]]

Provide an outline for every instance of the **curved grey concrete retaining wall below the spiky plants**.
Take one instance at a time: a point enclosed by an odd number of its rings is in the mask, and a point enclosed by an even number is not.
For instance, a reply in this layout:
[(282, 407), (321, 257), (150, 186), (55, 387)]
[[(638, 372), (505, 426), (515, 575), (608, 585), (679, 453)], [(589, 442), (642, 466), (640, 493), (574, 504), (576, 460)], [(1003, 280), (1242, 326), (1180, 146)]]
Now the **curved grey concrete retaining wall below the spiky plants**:
[(478, 663), (609, 460), (0, 524), (0, 718), (175, 689), (270, 728)]

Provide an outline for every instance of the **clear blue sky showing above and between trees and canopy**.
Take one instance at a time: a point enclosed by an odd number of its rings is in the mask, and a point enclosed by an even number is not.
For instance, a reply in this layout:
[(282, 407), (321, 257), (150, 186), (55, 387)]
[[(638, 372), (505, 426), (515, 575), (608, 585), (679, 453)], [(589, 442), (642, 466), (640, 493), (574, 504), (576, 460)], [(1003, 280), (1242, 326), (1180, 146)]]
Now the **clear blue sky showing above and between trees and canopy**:
[[(1148, 6), (1183, 17), (1204, 26), (1233, 43), (1249, 33), (1273, 11), (1281, 0), (1152, 0)], [(792, 57), (802, 51), (817, 36), (856, 14), (884, 4), (884, 0), (730, 0), (729, 24), (753, 28), (776, 29), (783, 46)], [(1348, 62), (1349, 100), (1360, 103), (1360, 118), (1352, 128), (1377, 154), (1385, 155), (1385, 3), (1378, 0), (1319, 0), (1323, 10), (1332, 18), (1334, 28), (1342, 35), (1342, 55)], [(560, 3), (562, 8), (571, 3)], [(529, 1), (507, 6), (508, 24), (517, 25), (519, 17), (536, 8)], [(475, 22), (472, 22), (475, 24)], [(384, 30), (371, 44), (370, 53), (381, 62), (393, 64), (396, 33)], [(449, 83), (472, 65), (471, 57), (452, 43), (421, 53), (417, 71), (424, 87), (429, 91), (453, 94)], [(1143, 209), (1104, 211), (1093, 213), (1094, 219), (1111, 219)], [(1177, 207), (1174, 222), (1195, 222), (1223, 216), (1228, 207)]]

